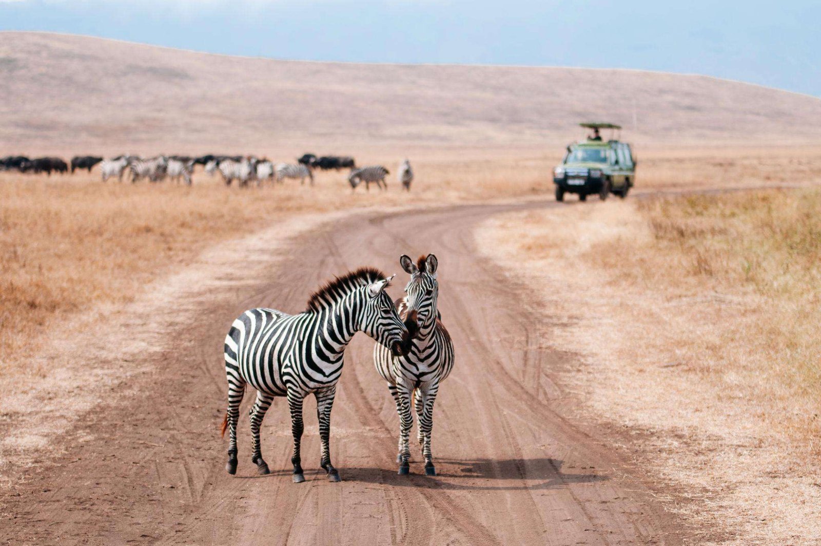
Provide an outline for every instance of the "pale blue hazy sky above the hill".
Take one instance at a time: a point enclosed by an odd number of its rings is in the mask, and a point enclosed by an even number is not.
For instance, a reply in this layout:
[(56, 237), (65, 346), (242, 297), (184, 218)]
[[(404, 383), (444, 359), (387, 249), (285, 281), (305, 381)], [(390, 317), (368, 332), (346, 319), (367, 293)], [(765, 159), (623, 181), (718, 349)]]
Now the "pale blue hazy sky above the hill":
[(255, 57), (634, 68), (821, 97), (821, 2), (0, 0), (0, 30)]

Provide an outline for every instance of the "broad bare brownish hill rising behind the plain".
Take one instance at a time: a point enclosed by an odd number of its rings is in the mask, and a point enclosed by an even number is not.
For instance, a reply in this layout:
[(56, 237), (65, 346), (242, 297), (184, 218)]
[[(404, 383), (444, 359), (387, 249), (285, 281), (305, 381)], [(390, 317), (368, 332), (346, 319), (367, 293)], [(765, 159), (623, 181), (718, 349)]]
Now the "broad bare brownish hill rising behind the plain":
[(551, 67), (236, 58), (0, 33), (0, 155), (527, 146), (622, 123), (631, 141), (821, 141), (821, 99), (688, 76)]

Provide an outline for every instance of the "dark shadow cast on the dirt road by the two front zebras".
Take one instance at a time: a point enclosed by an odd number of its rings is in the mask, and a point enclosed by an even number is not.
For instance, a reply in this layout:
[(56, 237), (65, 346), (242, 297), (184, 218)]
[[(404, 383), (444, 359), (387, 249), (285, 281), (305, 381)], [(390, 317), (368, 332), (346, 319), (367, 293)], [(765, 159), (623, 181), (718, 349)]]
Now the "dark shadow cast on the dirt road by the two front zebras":
[[(562, 472), (562, 460), (540, 459), (476, 459), (436, 460), (437, 475), (424, 475), (424, 464), (414, 461), (410, 474), (400, 476), (396, 468), (338, 467), (344, 481), (366, 484), (388, 484), (397, 487), (422, 487), (444, 490), (516, 491), (523, 489), (557, 489), (571, 484), (594, 484), (607, 481), (606, 475)], [(272, 470), (267, 476), (238, 476), (245, 479), (290, 476), (291, 470)], [(305, 469), (305, 478), (324, 479), (323, 470)], [(525, 481), (526, 480), (526, 481)], [(507, 481), (506, 484), (498, 484)]]

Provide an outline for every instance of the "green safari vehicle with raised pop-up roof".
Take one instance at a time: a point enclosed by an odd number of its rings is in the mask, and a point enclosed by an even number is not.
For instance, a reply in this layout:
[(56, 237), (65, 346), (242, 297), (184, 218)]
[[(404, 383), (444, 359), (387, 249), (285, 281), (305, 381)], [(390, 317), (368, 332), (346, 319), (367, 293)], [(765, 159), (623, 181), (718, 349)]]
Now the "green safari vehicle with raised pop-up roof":
[(553, 183), (556, 184), (556, 201), (564, 201), (565, 193), (577, 193), (580, 201), (587, 196), (599, 194), (604, 201), (613, 193), (622, 199), (635, 183), (635, 165), (630, 145), (616, 138), (603, 141), (598, 136), (601, 129), (621, 131), (621, 126), (612, 123), (580, 123), (581, 127), (593, 129), (596, 138), (567, 146), (562, 164), (553, 169)]

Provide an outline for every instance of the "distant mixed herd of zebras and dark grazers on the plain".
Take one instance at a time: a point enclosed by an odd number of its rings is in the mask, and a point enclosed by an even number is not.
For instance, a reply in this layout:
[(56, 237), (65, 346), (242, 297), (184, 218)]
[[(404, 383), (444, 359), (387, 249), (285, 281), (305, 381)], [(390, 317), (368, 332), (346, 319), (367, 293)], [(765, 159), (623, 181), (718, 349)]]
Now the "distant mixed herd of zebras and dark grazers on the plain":
[[(340, 155), (305, 154), (297, 159), (295, 164), (273, 163), (268, 158), (258, 158), (255, 155), (214, 154), (199, 157), (157, 155), (149, 158), (123, 154), (105, 159), (95, 155), (76, 155), (71, 158), (71, 164), (59, 157), (30, 159), (25, 155), (7, 155), (0, 158), (0, 170), (45, 173), (48, 176), (52, 173), (65, 174), (69, 169), (72, 174), (77, 169), (86, 169), (90, 173), (97, 164), (99, 164), (100, 177), (103, 182), (108, 181), (109, 178), (117, 178), (117, 181), (122, 182), (125, 176), (126, 180), (130, 180), (131, 183), (140, 180), (147, 180), (151, 183), (170, 180), (190, 185), (193, 182), (196, 165), (201, 165), (204, 173), (211, 176), (219, 174), (228, 186), (236, 180), (236, 184), (240, 187), (247, 187), (252, 182), (256, 182), (258, 186), (265, 181), (283, 183), (285, 178), (298, 179), (302, 184), (307, 179), (313, 185), (316, 170), (350, 169), (347, 181), (351, 184), (352, 190), (356, 189), (360, 183), (365, 183), (367, 190), (370, 190), (371, 183), (375, 183), (382, 190), (388, 188), (385, 178), (390, 174), (390, 171), (383, 165), (357, 167), (354, 158)], [(404, 189), (410, 191), (413, 170), (410, 169), (408, 160), (400, 165), (397, 179)]]

